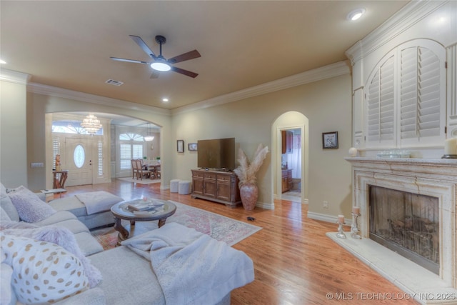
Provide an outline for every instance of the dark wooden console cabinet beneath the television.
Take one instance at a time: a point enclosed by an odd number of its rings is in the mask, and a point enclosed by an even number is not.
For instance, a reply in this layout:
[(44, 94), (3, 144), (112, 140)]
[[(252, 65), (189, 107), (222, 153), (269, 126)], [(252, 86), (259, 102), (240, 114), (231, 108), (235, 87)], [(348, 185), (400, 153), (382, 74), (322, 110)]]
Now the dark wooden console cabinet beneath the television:
[(241, 204), (238, 177), (231, 171), (192, 169), (192, 198), (235, 207)]

